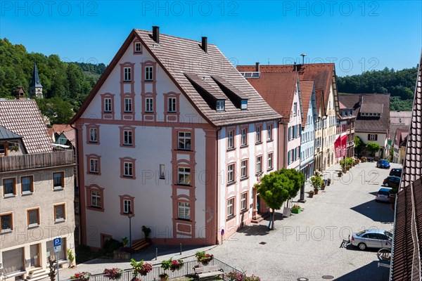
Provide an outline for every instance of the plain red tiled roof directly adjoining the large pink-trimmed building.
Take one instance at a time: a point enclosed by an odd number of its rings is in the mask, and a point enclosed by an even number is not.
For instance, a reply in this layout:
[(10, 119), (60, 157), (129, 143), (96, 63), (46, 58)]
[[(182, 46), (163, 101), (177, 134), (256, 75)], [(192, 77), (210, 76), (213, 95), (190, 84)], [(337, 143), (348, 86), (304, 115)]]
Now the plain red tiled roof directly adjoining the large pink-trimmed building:
[(293, 98), (298, 86), (298, 72), (262, 72), (260, 78), (250, 78), (248, 81), (283, 116), (282, 122), (290, 121)]

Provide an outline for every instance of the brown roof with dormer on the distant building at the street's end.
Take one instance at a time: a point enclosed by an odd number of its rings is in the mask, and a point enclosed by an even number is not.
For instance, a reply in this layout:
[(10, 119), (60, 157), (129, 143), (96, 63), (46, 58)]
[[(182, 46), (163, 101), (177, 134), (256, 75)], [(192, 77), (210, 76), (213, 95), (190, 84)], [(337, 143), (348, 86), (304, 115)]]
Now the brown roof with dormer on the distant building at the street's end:
[[(389, 93), (354, 93), (338, 95), (338, 100), (347, 108), (353, 109), (356, 116), (354, 130), (366, 133), (387, 133), (390, 119), (390, 94)], [(361, 103), (362, 102), (362, 103)], [(379, 111), (382, 105), (381, 116), (367, 117), (360, 115), (362, 105), (366, 112)], [(374, 107), (371, 110), (371, 106)]]

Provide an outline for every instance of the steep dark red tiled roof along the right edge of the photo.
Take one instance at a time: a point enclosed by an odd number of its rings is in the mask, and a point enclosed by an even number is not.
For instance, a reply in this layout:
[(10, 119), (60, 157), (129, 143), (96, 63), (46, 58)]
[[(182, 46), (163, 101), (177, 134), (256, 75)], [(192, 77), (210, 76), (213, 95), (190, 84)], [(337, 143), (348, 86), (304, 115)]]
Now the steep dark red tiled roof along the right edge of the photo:
[(422, 53), (395, 206), (390, 280), (422, 280)]

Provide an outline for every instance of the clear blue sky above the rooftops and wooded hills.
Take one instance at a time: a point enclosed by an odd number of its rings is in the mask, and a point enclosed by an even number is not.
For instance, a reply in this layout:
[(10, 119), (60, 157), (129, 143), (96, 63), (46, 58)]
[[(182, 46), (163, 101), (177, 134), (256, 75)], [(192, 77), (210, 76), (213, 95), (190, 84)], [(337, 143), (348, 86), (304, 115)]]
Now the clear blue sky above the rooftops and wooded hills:
[(240, 65), (335, 62), (337, 74), (414, 67), (422, 1), (0, 1), (0, 37), (110, 63), (133, 28), (216, 44)]

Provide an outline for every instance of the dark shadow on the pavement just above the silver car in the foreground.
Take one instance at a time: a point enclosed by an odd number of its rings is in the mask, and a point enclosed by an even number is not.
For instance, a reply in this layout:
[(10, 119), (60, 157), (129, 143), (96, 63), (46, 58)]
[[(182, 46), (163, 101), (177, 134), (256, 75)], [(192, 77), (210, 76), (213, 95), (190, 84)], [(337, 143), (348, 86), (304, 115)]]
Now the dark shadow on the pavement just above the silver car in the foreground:
[(392, 223), (394, 221), (394, 211), (392, 211), (390, 204), (381, 204), (371, 200), (350, 209), (371, 218), (373, 221), (381, 223)]

